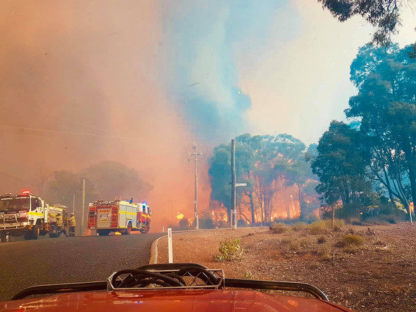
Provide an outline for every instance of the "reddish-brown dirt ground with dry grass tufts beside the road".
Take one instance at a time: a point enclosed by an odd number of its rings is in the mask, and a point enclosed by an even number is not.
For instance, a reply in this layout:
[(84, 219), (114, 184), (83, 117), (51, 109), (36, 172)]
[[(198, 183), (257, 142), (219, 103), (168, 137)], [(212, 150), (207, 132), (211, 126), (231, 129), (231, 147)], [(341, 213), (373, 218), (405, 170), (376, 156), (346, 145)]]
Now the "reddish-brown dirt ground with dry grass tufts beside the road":
[[(312, 232), (303, 225), (281, 234), (267, 227), (175, 234), (173, 261), (222, 268), (225, 277), (313, 284), (332, 302), (356, 311), (416, 311), (416, 225), (344, 225)], [(362, 236), (363, 243), (344, 245), (349, 234)], [(243, 259), (214, 261), (227, 238), (241, 239)], [(166, 237), (158, 252), (158, 262), (167, 262)]]

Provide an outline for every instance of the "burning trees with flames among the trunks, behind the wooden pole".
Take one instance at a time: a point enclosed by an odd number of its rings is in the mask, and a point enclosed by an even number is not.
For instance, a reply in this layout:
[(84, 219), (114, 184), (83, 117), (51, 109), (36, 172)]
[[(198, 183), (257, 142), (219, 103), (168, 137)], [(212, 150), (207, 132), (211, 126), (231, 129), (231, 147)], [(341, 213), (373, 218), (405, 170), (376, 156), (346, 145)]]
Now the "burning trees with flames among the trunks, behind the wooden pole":
[[(209, 168), (211, 200), (221, 202), (228, 213), (231, 209), (230, 151), (230, 144), (216, 146)], [(248, 187), (237, 188), (236, 200), (240, 208), (245, 203), (250, 205), (250, 218), (243, 215), (246, 221), (269, 223), (279, 205), (284, 205), (289, 218), (294, 216), (293, 205), (286, 192), (287, 187), (294, 185), (297, 186), (296, 198), (302, 209), (302, 188), (312, 175), (305, 155), (304, 143), (291, 135), (244, 134), (236, 137), (237, 181), (248, 183)], [(283, 202), (276, 202), (278, 191), (284, 194)], [(240, 213), (243, 214), (242, 209)]]

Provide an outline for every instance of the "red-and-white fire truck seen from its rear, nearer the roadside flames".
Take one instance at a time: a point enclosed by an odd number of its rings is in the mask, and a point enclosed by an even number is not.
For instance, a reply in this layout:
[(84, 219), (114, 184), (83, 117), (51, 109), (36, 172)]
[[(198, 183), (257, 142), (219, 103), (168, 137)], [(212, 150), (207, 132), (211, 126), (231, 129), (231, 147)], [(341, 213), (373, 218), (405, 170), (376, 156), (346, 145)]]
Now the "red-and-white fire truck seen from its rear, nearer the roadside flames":
[(110, 232), (128, 235), (133, 230), (146, 234), (153, 213), (146, 202), (131, 203), (127, 200), (90, 202), (88, 210), (88, 228), (96, 229), (98, 236)]

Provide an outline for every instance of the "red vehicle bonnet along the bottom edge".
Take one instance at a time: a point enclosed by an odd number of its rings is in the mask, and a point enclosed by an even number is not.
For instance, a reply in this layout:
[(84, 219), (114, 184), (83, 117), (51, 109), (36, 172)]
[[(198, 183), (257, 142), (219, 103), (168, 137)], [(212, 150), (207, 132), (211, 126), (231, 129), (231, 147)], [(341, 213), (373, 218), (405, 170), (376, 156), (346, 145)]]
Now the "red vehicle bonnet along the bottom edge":
[(331, 302), (258, 291), (147, 290), (67, 293), (0, 302), (0, 311), (351, 311)]

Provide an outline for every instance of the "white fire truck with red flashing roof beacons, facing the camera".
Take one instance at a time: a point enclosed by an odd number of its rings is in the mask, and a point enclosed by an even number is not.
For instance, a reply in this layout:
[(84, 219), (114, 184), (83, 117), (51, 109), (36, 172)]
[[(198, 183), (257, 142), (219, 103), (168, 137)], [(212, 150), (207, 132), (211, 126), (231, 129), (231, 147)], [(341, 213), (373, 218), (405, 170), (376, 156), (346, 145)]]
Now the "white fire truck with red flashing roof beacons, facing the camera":
[[(67, 209), (64, 206), (49, 207), (30, 191), (21, 194), (11, 193), (0, 196), (0, 241), (6, 242), (7, 236), (24, 236), (24, 239), (37, 239), (49, 234), (58, 237), (67, 226)], [(62, 227), (56, 227), (55, 216), (62, 216)]]

